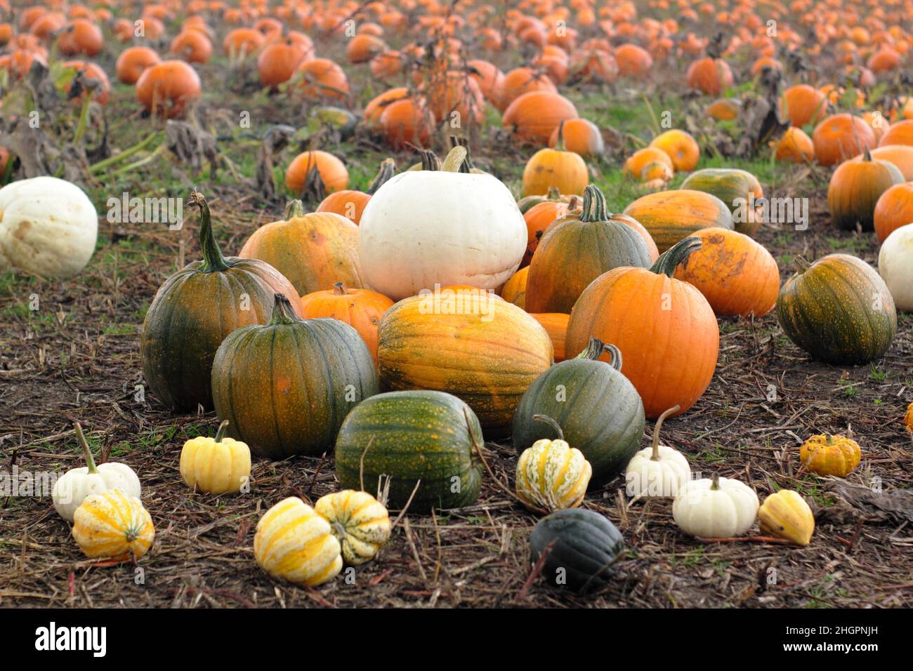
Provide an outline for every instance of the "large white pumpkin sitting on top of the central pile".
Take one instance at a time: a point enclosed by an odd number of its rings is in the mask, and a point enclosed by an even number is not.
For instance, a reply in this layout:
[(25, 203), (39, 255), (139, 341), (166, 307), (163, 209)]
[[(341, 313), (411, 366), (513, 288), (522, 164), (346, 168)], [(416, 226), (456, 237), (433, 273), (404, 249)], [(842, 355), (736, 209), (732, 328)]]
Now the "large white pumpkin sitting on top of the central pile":
[(375, 291), (401, 300), (436, 284), (496, 289), (519, 267), (523, 215), (498, 178), (454, 172), (465, 152), (454, 148), (440, 171), (394, 176), (368, 201), (358, 253)]

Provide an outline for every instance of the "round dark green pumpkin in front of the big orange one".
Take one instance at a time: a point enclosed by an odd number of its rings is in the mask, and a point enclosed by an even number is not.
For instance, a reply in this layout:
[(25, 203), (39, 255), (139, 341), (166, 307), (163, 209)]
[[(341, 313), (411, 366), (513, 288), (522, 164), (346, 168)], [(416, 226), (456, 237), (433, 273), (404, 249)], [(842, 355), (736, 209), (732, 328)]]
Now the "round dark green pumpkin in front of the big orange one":
[[(612, 362), (597, 361), (603, 352)], [(621, 352), (595, 338), (576, 359), (543, 372), (520, 399), (513, 444), (522, 453), (541, 438), (554, 439), (551, 426), (533, 420), (545, 414), (561, 426), (564, 440), (593, 466), (593, 482), (620, 473), (644, 437), (644, 404), (621, 372)]]

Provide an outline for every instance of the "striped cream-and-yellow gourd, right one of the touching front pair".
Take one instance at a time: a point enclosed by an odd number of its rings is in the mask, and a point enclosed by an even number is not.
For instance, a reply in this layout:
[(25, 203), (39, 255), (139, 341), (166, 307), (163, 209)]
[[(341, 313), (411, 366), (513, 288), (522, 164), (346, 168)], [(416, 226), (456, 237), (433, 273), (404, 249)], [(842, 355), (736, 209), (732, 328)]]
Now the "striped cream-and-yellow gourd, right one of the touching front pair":
[(357, 566), (371, 561), (390, 539), (387, 508), (368, 492), (344, 489), (318, 499), (314, 510), (330, 522), (342, 558)]

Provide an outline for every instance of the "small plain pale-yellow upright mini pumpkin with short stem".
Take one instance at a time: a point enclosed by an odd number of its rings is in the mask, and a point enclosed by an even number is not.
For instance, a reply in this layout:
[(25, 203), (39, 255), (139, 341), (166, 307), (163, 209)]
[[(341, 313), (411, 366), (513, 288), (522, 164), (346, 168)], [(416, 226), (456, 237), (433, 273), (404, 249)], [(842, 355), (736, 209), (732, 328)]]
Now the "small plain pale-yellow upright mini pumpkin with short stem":
[(181, 477), (187, 487), (207, 494), (235, 494), (250, 481), (250, 448), (226, 438), (226, 420), (215, 438), (200, 435), (184, 443)]

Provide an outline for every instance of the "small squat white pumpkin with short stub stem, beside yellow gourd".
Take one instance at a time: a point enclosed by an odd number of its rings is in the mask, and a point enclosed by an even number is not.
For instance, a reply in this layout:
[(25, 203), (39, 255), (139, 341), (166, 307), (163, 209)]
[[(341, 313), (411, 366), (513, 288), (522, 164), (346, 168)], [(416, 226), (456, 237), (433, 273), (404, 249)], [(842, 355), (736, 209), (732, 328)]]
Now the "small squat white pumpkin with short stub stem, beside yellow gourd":
[(678, 528), (702, 539), (740, 536), (758, 517), (758, 495), (739, 480), (714, 476), (678, 489), (672, 517)]

